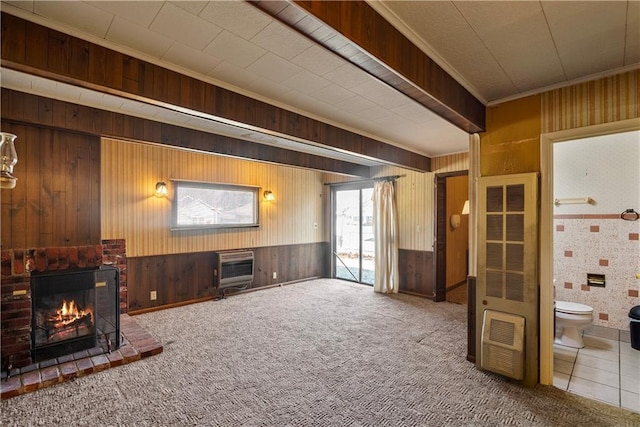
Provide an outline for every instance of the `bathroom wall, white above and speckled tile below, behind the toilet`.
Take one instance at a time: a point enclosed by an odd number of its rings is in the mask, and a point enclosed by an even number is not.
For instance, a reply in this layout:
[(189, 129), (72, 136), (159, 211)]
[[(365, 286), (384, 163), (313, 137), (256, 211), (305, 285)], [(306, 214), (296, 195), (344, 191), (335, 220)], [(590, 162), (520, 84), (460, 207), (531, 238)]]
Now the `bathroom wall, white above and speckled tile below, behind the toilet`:
[[(554, 144), (554, 198), (591, 197), (594, 204), (554, 208), (556, 299), (590, 305), (594, 324), (629, 329), (629, 309), (640, 304), (640, 132)], [(587, 273), (604, 274), (604, 288), (587, 286)]]

